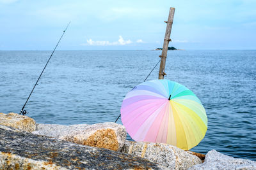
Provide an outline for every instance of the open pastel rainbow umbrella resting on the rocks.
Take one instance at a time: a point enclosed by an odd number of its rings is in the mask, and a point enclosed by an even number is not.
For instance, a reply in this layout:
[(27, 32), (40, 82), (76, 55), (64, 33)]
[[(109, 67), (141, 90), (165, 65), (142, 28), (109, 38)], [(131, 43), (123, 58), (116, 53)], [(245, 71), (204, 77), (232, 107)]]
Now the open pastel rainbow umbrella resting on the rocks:
[(124, 98), (121, 119), (135, 141), (168, 143), (183, 150), (198, 145), (207, 131), (207, 116), (198, 97), (170, 80), (134, 87)]

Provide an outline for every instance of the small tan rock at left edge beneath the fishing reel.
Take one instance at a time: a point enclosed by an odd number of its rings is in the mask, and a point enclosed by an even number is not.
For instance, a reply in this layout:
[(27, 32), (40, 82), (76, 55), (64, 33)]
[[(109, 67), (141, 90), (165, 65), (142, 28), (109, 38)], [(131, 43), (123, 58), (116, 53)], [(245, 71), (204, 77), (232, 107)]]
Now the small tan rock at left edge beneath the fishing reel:
[(36, 122), (33, 118), (17, 113), (0, 113), (0, 125), (14, 127), (26, 132), (33, 132), (36, 129)]

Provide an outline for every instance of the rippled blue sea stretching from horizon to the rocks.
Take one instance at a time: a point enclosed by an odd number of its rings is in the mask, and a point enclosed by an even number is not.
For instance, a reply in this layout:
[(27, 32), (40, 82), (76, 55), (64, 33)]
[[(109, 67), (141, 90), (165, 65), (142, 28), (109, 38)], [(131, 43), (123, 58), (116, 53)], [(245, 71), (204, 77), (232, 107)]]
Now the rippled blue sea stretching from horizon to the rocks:
[[(145, 80), (160, 54), (57, 51), (25, 110), (43, 124), (115, 122), (125, 94)], [(0, 51), (0, 112), (20, 112), (50, 55)], [(158, 71), (159, 65), (148, 80), (157, 79)], [(256, 50), (169, 51), (165, 72), (165, 79), (188, 87), (205, 107), (208, 130), (193, 151), (256, 160)]]

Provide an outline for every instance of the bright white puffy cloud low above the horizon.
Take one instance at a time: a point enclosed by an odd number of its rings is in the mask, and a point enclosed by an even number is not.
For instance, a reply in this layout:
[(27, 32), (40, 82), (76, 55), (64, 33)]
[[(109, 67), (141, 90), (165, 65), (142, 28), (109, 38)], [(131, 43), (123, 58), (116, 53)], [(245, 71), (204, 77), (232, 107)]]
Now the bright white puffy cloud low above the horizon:
[(132, 41), (130, 39), (128, 40), (124, 40), (124, 38), (122, 38), (122, 36), (119, 36), (118, 41), (113, 41), (113, 42), (109, 42), (109, 41), (94, 41), (92, 39), (87, 39), (87, 43), (83, 43), (81, 45), (99, 45), (99, 46), (105, 46), (105, 45), (129, 45), (131, 44)]

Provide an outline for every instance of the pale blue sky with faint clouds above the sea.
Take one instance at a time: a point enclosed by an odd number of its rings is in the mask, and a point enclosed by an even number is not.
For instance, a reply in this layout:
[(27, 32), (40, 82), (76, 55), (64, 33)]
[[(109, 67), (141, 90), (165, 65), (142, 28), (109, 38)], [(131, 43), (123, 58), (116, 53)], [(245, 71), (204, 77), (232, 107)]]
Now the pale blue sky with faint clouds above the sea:
[(256, 0), (0, 0), (0, 50), (256, 49)]

